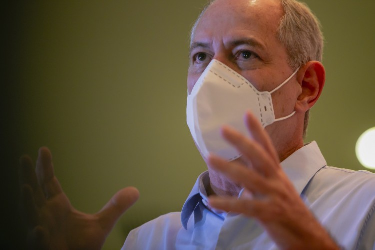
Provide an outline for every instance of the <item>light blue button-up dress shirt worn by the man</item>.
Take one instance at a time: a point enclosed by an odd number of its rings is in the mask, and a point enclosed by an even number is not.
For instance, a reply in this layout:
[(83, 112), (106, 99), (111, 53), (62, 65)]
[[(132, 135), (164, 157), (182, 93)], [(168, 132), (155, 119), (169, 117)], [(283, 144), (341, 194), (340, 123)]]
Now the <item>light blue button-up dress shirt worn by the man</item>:
[[(375, 174), (327, 166), (316, 142), (294, 152), (281, 166), (342, 248), (375, 250)], [(278, 249), (255, 219), (207, 207), (208, 185), (204, 172), (181, 212), (132, 230), (122, 249)]]

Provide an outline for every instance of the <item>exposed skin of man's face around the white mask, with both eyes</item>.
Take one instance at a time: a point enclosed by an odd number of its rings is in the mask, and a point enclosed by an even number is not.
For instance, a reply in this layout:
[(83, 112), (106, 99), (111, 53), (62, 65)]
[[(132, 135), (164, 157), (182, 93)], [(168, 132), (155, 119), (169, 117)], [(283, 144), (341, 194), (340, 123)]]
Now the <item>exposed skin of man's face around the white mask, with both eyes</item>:
[[(260, 91), (270, 91), (281, 84), (293, 73), (286, 49), (277, 39), (282, 14), (278, 0), (216, 0), (192, 37), (189, 93), (212, 59), (223, 62)], [(296, 84), (294, 78), (272, 94), (276, 118), (294, 110)]]

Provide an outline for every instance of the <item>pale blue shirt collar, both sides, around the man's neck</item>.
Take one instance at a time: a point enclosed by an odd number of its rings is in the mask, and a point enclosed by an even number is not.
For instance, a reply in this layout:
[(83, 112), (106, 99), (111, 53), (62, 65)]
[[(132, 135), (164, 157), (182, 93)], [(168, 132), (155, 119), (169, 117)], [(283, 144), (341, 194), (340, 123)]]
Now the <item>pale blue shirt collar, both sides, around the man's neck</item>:
[[(327, 163), (315, 141), (306, 144), (281, 162), (281, 167), (299, 194), (302, 193), (316, 172), (326, 165)], [(181, 222), (185, 229), (187, 229), (187, 222), (199, 201), (207, 198), (206, 187), (208, 184), (209, 175), (208, 171), (205, 171), (199, 175), (182, 207)]]

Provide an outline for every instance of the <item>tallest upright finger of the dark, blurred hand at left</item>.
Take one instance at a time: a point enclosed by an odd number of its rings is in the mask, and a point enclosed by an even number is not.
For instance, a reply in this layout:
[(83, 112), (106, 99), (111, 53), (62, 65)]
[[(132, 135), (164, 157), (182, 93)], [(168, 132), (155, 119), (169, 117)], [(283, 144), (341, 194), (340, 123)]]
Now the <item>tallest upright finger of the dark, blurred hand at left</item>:
[(46, 147), (39, 149), (36, 176), (46, 198), (51, 198), (62, 192), (61, 185), (54, 175), (52, 154)]

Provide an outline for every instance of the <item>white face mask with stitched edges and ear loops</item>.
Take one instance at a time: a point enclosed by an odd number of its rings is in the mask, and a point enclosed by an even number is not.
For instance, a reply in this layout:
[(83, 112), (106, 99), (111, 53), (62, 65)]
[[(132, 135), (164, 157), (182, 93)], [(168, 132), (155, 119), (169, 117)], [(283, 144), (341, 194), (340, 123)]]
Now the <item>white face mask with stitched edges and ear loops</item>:
[(288, 116), (275, 118), (271, 93), (286, 84), (297, 71), (272, 91), (260, 92), (242, 75), (213, 59), (187, 95), (187, 125), (203, 158), (210, 153), (228, 161), (241, 156), (222, 138), (220, 129), (223, 125), (229, 125), (249, 136), (243, 121), (248, 110), (263, 127), (291, 117), (295, 111)]

